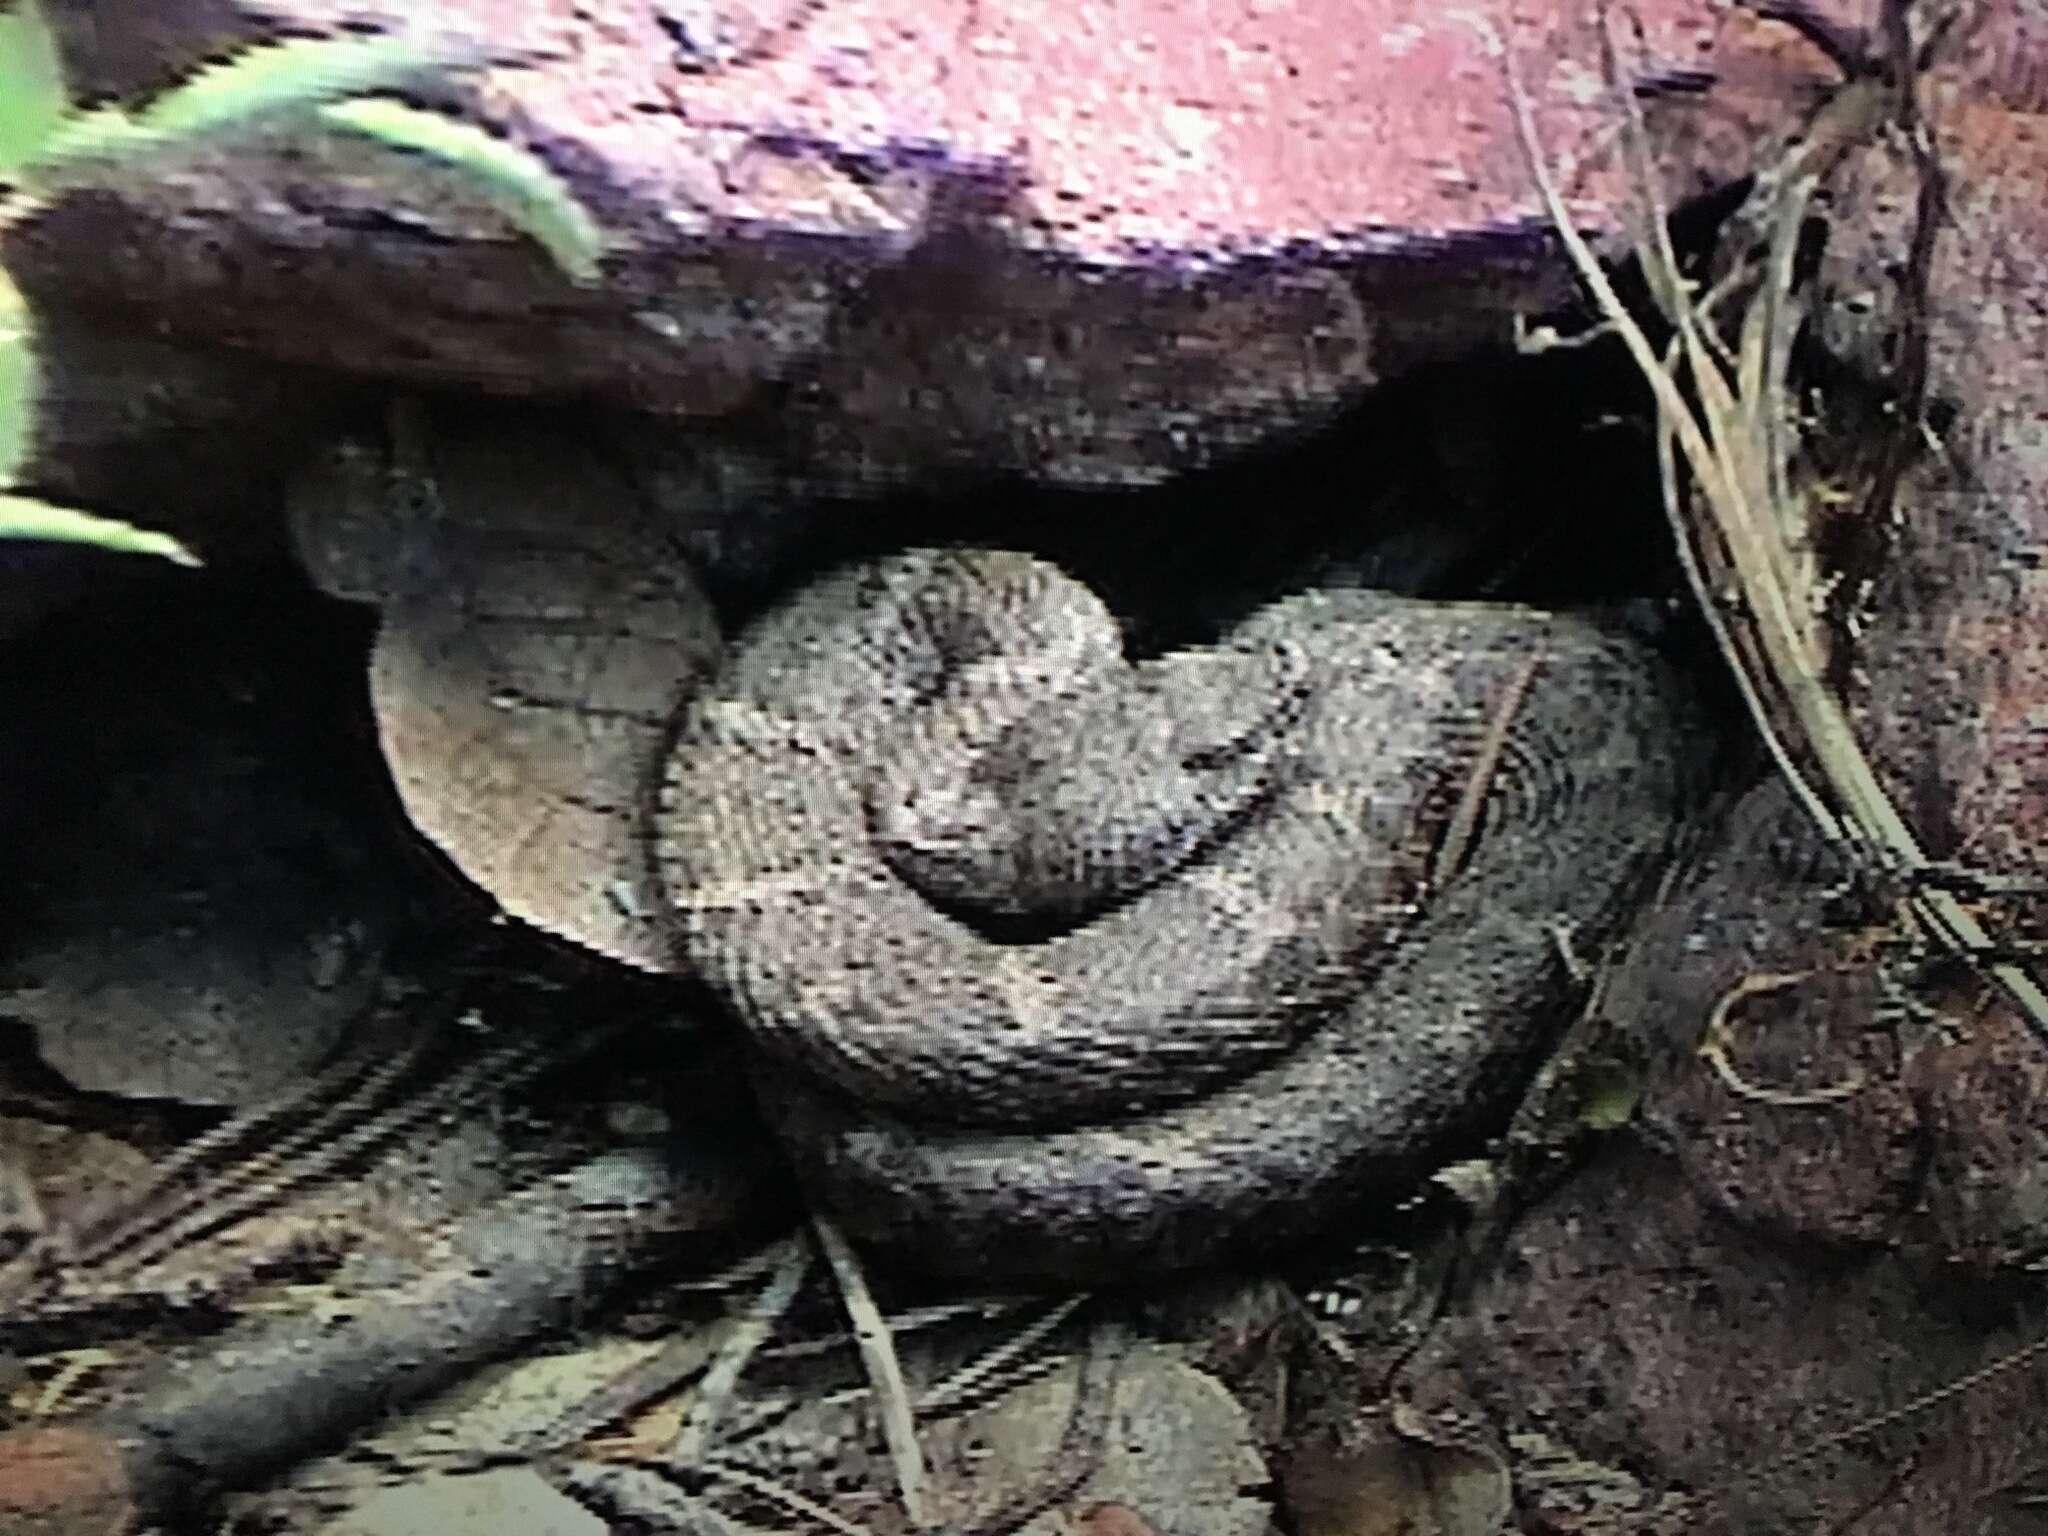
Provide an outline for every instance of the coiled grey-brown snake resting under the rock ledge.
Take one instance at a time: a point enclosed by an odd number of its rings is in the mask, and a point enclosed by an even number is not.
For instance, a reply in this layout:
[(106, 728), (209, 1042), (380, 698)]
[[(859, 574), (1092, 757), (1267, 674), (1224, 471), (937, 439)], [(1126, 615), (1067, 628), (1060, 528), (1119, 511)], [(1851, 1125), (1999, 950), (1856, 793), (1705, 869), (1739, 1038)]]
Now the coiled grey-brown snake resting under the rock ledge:
[(1055, 567), (909, 551), (737, 637), (651, 842), (842, 1219), (1073, 1280), (1313, 1231), (1483, 1124), (1698, 739), (1593, 618), (1317, 590), (1130, 664)]

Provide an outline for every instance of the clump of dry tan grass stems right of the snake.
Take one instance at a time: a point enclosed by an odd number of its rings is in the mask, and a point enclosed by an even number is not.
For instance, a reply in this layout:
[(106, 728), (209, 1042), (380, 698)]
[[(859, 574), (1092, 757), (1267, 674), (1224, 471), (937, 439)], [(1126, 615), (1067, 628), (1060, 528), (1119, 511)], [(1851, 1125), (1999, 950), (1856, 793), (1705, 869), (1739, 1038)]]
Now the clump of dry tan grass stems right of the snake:
[[(1620, 80), (1612, 18), (1606, 12), (1602, 31), (1610, 80)], [(1626, 123), (1630, 178), (1651, 231), (1638, 256), (1651, 293), (1673, 328), (1671, 352), (1665, 356), (1657, 354), (1573, 225), (1542, 152), (1513, 53), (1497, 35), (1493, 45), (1499, 49), (1516, 131), (1544, 211), (1602, 317), (1622, 338), (1657, 401), (1665, 512), (1679, 559), (1774, 764), (1823, 836), (1849, 852), (1862, 868), (1905, 877), (1909, 893), (1903, 905), (1915, 924), (1937, 944), (1978, 961), (2025, 1022), (2048, 1038), (2048, 993), (2019, 965), (1997, 956), (1991, 936), (1954, 891), (1933, 883), (1931, 860), (1864, 756), (1847, 709), (1827, 686), (1827, 657), (1819, 637), (1821, 592), (1808, 551), (1806, 506), (1790, 479), (1796, 428), (1786, 375), (1792, 338), (1802, 319), (1792, 293), (1800, 231), (1825, 176), (1892, 119), (1901, 88), (1890, 80), (1851, 82), (1821, 109), (1778, 164), (1757, 176), (1739, 225), (1747, 223), (1759, 233), (1765, 254), (1759, 264), (1739, 266), (1741, 281), (1733, 285), (1735, 291), (1747, 289), (1747, 305), (1731, 369), (1726, 348), (1702, 303), (1692, 297), (1671, 246), (1649, 133), (1632, 92), (1622, 86), (1614, 90)], [(1716, 289), (1710, 297), (1718, 303), (1735, 295)], [(1718, 551), (1702, 551), (1696, 543), (1704, 539), (1704, 530), (1696, 530), (1686, 516), (1679, 459), (1698, 485), (1706, 510), (1704, 528), (1718, 537)], [(1733, 590), (1726, 594), (1708, 578), (1710, 553), (1724, 559), (1731, 571)], [(1731, 606), (1739, 608), (1741, 633), (1731, 623)]]

